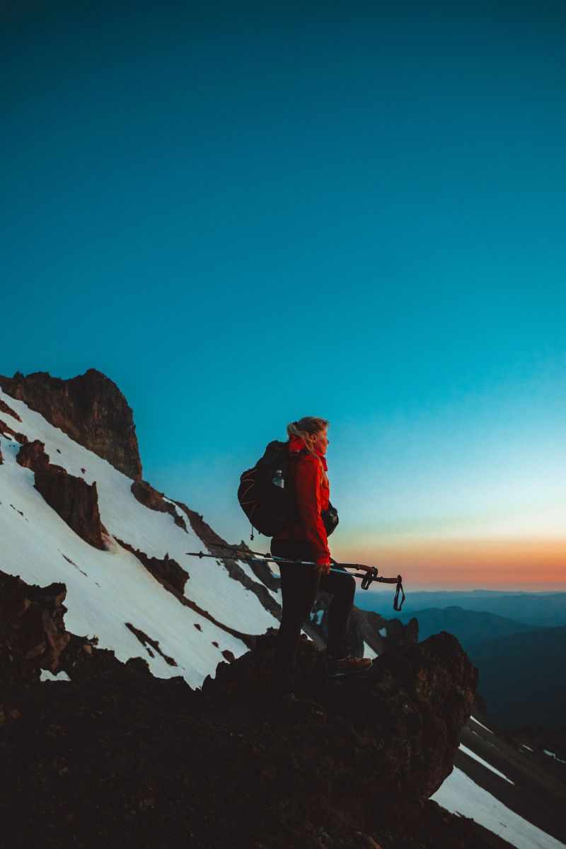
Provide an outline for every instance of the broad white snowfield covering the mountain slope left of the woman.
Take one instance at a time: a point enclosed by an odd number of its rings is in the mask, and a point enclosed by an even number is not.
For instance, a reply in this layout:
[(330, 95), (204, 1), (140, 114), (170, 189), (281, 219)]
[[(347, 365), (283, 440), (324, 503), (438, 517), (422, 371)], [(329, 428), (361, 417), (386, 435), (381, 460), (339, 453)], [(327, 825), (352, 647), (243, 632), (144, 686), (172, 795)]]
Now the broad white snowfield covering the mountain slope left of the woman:
[[(0, 465), (0, 570), (41, 586), (63, 582), (67, 588), (65, 625), (70, 632), (97, 636), (100, 648), (114, 649), (120, 661), (142, 656), (157, 677), (182, 675), (193, 687), (215, 673), (223, 660), (222, 649), (236, 657), (247, 651), (242, 640), (180, 604), (117, 540), (149, 557), (162, 559), (169, 554), (176, 559), (189, 574), (186, 597), (216, 621), (242, 633), (278, 627), (277, 619), (255, 593), (234, 580), (221, 561), (188, 557), (188, 550), (205, 548), (188, 517), (188, 531), (183, 531), (170, 514), (144, 507), (132, 495), (130, 478), (72, 441), (24, 402), (2, 391), (0, 398), (19, 413), (18, 430), (45, 444), (53, 464), (87, 483), (97, 483), (100, 516), (110, 535), (105, 551), (85, 543), (48, 506), (33, 486), (31, 469), (16, 463), (20, 445), (0, 436), (4, 458)], [(157, 654), (151, 658), (126, 622), (158, 640), (160, 649), (178, 666), (169, 666)]]

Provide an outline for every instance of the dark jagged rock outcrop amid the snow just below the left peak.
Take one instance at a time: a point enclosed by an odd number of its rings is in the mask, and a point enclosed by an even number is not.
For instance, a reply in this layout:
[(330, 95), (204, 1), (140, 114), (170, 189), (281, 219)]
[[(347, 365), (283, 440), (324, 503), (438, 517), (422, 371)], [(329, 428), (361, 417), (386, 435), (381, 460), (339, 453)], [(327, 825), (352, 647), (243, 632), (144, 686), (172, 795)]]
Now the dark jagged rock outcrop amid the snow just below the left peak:
[(39, 440), (23, 445), (16, 460), (34, 472), (37, 492), (71, 530), (85, 543), (104, 550), (106, 530), (100, 520), (96, 483), (87, 484), (61, 466), (50, 464), (45, 446)]

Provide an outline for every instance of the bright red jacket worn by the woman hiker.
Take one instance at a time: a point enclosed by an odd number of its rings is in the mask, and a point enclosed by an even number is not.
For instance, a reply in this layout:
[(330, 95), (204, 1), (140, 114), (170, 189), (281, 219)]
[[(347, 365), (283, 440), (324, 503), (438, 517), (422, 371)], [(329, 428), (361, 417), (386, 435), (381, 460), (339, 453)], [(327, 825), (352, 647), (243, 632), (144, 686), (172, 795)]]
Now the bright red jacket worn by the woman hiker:
[[(304, 447), (305, 443), (299, 436), (292, 436), (289, 440), (289, 454), (299, 453)], [(326, 459), (322, 454), (318, 456), (326, 470)], [(300, 524), (294, 525), (292, 532), (285, 531), (279, 534), (277, 539), (293, 538), (311, 543), (312, 557), (316, 559), (317, 563), (328, 563), (330, 551), (328, 550), (328, 539), (321, 517), (321, 510), (328, 509), (330, 498), (328, 480), (325, 481), (322, 478), (321, 464), (312, 454), (301, 454), (292, 464), (292, 468)]]

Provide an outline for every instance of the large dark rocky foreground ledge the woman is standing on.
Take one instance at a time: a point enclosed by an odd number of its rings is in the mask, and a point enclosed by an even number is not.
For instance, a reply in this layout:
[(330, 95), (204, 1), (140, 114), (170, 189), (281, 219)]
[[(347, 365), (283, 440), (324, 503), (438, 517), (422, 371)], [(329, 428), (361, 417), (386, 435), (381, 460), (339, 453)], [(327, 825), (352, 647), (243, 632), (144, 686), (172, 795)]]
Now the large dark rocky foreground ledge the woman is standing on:
[[(272, 649), (259, 639), (197, 693), (143, 675), (140, 661), (65, 684), (14, 678), (0, 697), (9, 845), (37, 833), (78, 845), (96, 827), (99, 846), (142, 849), (486, 846), (470, 821), (426, 801), (451, 772), (474, 697), (456, 639), (392, 650), (341, 681), (303, 642), (308, 698), (291, 702), (271, 698)], [(97, 654), (78, 652), (85, 668)]]

